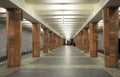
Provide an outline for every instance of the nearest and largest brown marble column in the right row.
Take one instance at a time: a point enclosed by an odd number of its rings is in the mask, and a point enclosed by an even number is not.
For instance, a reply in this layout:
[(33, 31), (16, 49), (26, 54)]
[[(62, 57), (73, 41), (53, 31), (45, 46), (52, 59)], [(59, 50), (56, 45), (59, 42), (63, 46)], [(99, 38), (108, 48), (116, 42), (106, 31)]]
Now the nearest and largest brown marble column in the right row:
[(118, 67), (118, 7), (104, 8), (104, 54), (106, 67)]

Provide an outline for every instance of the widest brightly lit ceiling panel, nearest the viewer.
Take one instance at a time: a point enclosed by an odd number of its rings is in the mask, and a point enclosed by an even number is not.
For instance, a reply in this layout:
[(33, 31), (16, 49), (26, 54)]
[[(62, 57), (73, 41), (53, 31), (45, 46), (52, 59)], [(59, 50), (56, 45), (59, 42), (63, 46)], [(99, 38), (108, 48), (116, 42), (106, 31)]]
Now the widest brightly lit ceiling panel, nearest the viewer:
[(92, 10), (94, 8), (94, 5), (95, 4), (39, 4), (35, 5), (34, 9), (39, 11)]

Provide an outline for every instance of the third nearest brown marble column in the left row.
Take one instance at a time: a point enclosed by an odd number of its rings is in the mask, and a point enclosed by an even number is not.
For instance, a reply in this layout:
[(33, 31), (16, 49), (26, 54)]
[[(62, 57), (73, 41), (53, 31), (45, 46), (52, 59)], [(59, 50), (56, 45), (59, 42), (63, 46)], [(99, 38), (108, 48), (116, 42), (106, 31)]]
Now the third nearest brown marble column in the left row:
[(43, 39), (43, 52), (48, 53), (48, 29), (44, 29)]

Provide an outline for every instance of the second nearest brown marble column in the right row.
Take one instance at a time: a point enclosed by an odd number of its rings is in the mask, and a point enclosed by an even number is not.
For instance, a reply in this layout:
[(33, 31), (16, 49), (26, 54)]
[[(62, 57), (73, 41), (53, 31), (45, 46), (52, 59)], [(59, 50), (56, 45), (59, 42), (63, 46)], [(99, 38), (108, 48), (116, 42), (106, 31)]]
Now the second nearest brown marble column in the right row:
[(90, 56), (97, 57), (97, 50), (98, 50), (98, 23), (91, 22), (89, 24), (90, 28)]

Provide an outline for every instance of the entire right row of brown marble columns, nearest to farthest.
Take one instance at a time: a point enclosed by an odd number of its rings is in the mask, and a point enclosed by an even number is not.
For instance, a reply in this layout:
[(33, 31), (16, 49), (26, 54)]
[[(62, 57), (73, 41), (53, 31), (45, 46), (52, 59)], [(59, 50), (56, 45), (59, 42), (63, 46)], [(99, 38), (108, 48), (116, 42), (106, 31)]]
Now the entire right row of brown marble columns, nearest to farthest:
[[(118, 67), (118, 7), (104, 8), (102, 18), (104, 22), (104, 62), (106, 67)], [(89, 28), (85, 28), (75, 37), (76, 47), (89, 52), (90, 57), (97, 57), (98, 51), (98, 22), (90, 22)]]

